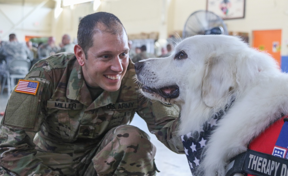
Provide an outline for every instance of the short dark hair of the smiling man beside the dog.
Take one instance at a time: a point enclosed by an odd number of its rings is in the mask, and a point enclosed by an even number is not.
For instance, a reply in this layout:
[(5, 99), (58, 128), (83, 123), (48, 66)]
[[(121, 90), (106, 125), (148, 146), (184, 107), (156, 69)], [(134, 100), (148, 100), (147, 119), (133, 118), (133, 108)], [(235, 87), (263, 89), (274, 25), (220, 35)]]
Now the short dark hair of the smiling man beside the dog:
[[(97, 28), (98, 24), (103, 24), (106, 28), (105, 30), (100, 30)], [(119, 26), (121, 26), (121, 31)], [(113, 15), (112, 13), (107, 12), (96, 12), (90, 15), (85, 16), (80, 20), (77, 32), (77, 40), (78, 45), (84, 50), (86, 59), (86, 52), (90, 47), (93, 46), (93, 35), (96, 32), (108, 32), (111, 34), (117, 34), (122, 32), (122, 30), (126, 32), (123, 24), (119, 20), (118, 17)]]

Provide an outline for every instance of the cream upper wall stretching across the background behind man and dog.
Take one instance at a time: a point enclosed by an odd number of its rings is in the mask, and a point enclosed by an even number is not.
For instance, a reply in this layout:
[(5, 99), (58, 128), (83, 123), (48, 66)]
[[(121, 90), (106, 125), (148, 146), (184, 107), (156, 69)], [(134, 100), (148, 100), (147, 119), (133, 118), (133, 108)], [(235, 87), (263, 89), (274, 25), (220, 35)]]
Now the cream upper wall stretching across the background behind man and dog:
[[(56, 37), (60, 43), (63, 34), (77, 36), (79, 18), (94, 13), (91, 2), (65, 7), (54, 19), (54, 10), (41, 7), (21, 21), (34, 7), (0, 4), (0, 35), (7, 40), (10, 32), (19, 40), (25, 35)], [(194, 11), (205, 10), (206, 0), (119, 0), (105, 1), (97, 11), (114, 13), (128, 34), (159, 32), (167, 38), (173, 31), (182, 31), (185, 21)], [(245, 18), (224, 20), (231, 32), (247, 32), (251, 42), (253, 30), (282, 30), (281, 55), (288, 55), (288, 1), (246, 0)], [(19, 24), (20, 23), (20, 24)]]

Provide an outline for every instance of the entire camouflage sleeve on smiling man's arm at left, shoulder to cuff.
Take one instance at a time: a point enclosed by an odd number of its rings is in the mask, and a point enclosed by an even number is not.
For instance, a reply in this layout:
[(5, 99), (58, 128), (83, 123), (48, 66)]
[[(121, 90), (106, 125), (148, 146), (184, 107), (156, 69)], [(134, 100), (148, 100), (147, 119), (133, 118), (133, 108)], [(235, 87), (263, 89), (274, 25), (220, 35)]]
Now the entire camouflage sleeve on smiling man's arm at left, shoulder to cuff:
[[(33, 94), (11, 93), (5, 115), (0, 124), (0, 165), (3, 171), (15, 175), (56, 175), (35, 154), (34, 136), (45, 120), (45, 99), (50, 96), (50, 78), (43, 69), (32, 69), (23, 79), (38, 84)], [(26, 83), (26, 82), (25, 82)], [(28, 83), (29, 84), (29, 83)], [(32, 87), (33, 87), (32, 86)]]

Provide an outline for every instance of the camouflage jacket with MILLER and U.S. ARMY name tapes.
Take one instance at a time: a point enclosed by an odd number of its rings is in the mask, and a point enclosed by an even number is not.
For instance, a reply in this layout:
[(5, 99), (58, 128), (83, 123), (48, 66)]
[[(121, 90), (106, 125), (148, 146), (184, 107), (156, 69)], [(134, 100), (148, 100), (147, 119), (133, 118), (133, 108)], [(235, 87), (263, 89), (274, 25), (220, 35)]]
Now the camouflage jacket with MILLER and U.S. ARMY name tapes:
[(92, 101), (74, 54), (37, 62), (25, 77), (39, 82), (36, 94), (13, 91), (8, 101), (0, 125), (1, 167), (18, 175), (54, 175), (35, 156), (37, 151), (71, 156), (87, 152), (109, 129), (128, 124), (135, 112), (170, 150), (183, 153), (181, 139), (174, 134), (178, 107), (143, 98), (136, 91), (134, 75), (130, 60), (120, 89), (104, 91)]

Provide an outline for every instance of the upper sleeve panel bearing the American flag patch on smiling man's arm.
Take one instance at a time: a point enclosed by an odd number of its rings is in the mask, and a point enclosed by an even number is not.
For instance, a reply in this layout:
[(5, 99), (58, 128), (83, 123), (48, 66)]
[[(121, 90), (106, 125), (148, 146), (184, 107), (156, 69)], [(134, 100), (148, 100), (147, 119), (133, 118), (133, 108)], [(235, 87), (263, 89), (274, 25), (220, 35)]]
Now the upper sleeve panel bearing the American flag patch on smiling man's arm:
[(32, 71), (24, 80), (19, 80), (7, 103), (3, 117), (4, 126), (38, 131), (44, 120), (45, 96), (49, 94), (49, 80), (39, 78), (40, 74), (42, 72), (39, 70)]

